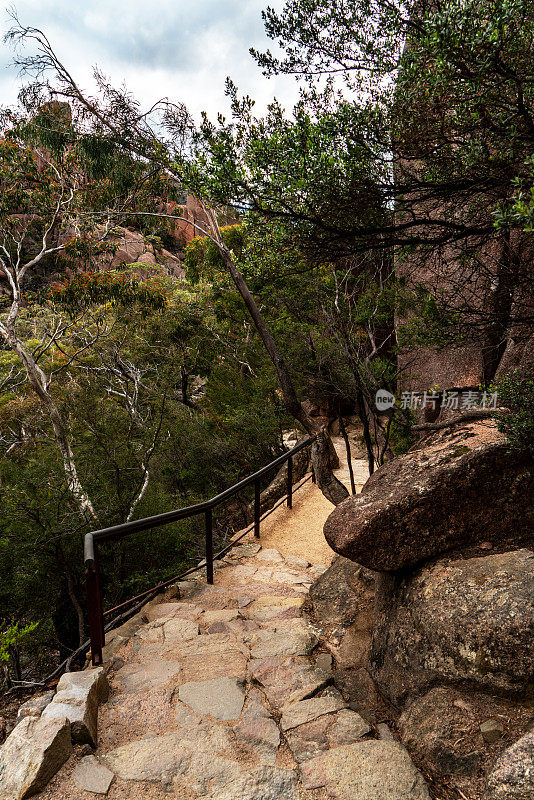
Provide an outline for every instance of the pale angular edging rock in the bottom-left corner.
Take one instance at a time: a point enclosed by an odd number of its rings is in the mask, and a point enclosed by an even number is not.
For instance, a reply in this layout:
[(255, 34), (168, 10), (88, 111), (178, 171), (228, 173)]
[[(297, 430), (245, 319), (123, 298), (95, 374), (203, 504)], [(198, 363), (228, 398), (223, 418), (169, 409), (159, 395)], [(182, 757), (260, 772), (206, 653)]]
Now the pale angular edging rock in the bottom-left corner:
[(70, 724), (25, 717), (0, 750), (0, 797), (23, 800), (44, 789), (72, 753)]

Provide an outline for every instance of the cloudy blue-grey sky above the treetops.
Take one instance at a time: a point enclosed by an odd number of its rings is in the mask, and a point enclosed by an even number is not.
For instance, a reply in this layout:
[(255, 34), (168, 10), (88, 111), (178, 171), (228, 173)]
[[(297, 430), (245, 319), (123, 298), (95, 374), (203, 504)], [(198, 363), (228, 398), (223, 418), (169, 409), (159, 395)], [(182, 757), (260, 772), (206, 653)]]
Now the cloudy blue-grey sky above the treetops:
[[(212, 118), (227, 112), (227, 75), (257, 100), (258, 111), (275, 96), (292, 106), (295, 80), (264, 78), (248, 52), (272, 44), (261, 19), (267, 4), (281, 8), (283, 0), (16, 0), (14, 7), (23, 24), (47, 34), (84, 87), (97, 64), (143, 103), (168, 96), (198, 119), (202, 110)], [(5, 32), (10, 23), (3, 9), (1, 20)], [(10, 67), (10, 48), (0, 46), (0, 105), (9, 105), (20, 79)]]

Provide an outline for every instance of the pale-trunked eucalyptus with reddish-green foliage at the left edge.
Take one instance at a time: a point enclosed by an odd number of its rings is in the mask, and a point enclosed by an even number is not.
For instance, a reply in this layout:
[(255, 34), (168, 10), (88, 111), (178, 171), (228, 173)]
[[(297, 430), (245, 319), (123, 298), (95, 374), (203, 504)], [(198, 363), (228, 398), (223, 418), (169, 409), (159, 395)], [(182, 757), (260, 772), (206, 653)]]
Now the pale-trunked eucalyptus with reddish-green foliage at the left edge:
[[(97, 150), (95, 137), (76, 129), (65, 104), (40, 104), (29, 114), (8, 114), (2, 133), (0, 269), (7, 293), (2, 299), (0, 334), (4, 346), (18, 357), (29, 388), (46, 410), (69, 493), (82, 518), (95, 523), (97, 514), (76, 465), (68, 420), (54, 399), (53, 384), (60, 370), (46, 371), (42, 364), (62, 342), (68, 342), (68, 363), (76, 362), (97, 346), (106, 334), (106, 325), (98, 315), (87, 314), (83, 321), (80, 318), (74, 323), (64, 315), (51, 314), (44, 329), (36, 320), (35, 332), (42, 338), (31, 348), (25, 342), (25, 309), (32, 300), (35, 303), (36, 289), (43, 288), (45, 276), (57, 275), (60, 257), (66, 263), (74, 257), (81, 264), (103, 255), (109, 248), (108, 234), (115, 213), (129, 208), (134, 199), (139, 202), (136, 184), (146, 191), (146, 169), (133, 164), (131, 158), (126, 164), (124, 155), (114, 153), (109, 142), (98, 141)], [(139, 300), (136, 288), (135, 281), (93, 276), (92, 283), (88, 278), (79, 292), (81, 298), (83, 289), (86, 293), (99, 289), (103, 299), (117, 299), (122, 294), (123, 300), (129, 293), (130, 301), (135, 302)], [(150, 293), (143, 299), (157, 302)], [(4, 390), (17, 385), (19, 378), (12, 364), (4, 377)]]

